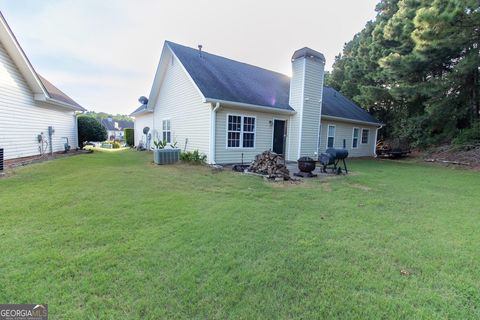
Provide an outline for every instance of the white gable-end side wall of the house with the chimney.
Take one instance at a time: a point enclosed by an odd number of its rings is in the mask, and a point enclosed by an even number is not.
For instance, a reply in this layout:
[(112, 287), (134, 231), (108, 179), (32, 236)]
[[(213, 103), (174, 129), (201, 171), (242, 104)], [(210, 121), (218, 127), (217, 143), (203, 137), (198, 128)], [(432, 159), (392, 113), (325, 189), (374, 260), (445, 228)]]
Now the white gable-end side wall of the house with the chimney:
[(210, 162), (211, 104), (203, 102), (175, 56), (167, 54), (164, 58), (168, 66), (154, 107), (152, 138), (163, 140), (165, 133), (170, 143), (176, 142), (182, 150), (198, 150)]

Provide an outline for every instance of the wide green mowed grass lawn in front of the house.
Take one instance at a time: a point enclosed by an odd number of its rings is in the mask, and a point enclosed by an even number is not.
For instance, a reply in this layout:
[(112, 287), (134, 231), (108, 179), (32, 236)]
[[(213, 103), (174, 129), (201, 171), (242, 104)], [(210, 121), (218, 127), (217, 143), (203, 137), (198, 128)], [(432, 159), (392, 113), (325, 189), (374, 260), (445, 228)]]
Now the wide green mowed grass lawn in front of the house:
[(51, 319), (480, 317), (480, 174), (299, 186), (96, 152), (0, 179), (0, 303)]

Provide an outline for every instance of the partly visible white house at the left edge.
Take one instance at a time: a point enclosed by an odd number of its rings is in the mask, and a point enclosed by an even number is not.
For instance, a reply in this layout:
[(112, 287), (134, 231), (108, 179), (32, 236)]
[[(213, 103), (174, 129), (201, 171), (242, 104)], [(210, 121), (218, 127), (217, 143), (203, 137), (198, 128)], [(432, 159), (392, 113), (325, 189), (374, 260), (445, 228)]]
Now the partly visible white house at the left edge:
[(0, 13), (0, 148), (5, 159), (62, 151), (67, 139), (77, 148), (79, 111), (85, 109), (35, 72)]

